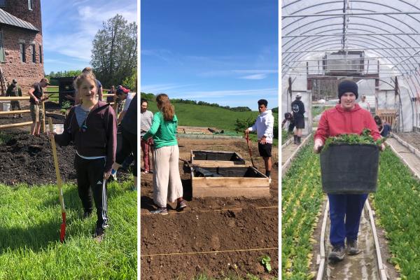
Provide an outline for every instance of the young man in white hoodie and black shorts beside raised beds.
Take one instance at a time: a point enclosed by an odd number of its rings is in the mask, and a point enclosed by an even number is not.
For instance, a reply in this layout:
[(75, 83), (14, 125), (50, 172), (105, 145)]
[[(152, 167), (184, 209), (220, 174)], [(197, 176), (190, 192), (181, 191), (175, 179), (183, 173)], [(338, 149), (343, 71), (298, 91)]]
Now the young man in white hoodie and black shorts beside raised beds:
[(269, 181), (271, 182), (274, 116), (271, 110), (267, 110), (267, 105), (267, 100), (258, 100), (258, 111), (260, 115), (258, 115), (253, 126), (245, 130), (245, 134), (255, 130), (257, 131), (258, 152), (264, 160), (265, 176), (269, 177)]

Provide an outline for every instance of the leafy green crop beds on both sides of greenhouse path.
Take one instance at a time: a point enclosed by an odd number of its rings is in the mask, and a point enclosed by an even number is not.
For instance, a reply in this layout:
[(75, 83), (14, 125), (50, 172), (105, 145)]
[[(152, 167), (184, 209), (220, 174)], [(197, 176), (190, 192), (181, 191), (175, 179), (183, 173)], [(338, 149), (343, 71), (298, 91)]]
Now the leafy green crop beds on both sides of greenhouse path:
[[(297, 154), (282, 179), (282, 279), (315, 276), (310, 271), (312, 235), (326, 198), (321, 190), (319, 159), (311, 144)], [(378, 190), (370, 200), (376, 223), (386, 232), (391, 251), (388, 261), (401, 279), (420, 279), (420, 181), (389, 149), (381, 153)]]

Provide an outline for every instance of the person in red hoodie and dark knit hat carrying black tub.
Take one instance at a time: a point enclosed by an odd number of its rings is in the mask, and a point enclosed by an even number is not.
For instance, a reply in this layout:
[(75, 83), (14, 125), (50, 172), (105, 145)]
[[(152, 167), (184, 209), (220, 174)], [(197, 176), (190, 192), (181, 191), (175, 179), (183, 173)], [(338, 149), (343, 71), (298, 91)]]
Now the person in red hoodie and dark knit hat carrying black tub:
[[(319, 121), (314, 137), (314, 152), (319, 153), (328, 137), (339, 134), (361, 134), (365, 128), (369, 129), (374, 140), (381, 138), (377, 125), (370, 112), (363, 110), (356, 104), (358, 86), (351, 80), (344, 80), (338, 85), (339, 104), (335, 108), (325, 111)], [(384, 144), (381, 146), (383, 151)], [(357, 176), (357, 174), (355, 174)], [(328, 259), (332, 262), (344, 259), (344, 239), (346, 239), (347, 253), (360, 253), (357, 248), (357, 235), (363, 205), (367, 194), (362, 195), (332, 195), (328, 194), (330, 202), (330, 242), (332, 251)]]

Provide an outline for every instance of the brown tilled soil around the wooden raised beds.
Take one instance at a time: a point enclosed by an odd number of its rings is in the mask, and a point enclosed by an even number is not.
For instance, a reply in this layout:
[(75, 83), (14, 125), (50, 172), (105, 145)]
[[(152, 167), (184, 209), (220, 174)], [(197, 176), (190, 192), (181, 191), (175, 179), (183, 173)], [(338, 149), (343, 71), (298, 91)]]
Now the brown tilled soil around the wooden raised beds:
[[(190, 160), (191, 150), (235, 151), (251, 165), (245, 140), (181, 139), (180, 158)], [(278, 255), (278, 150), (273, 151), (270, 197), (207, 197), (191, 199), (190, 174), (179, 168), (184, 197), (183, 212), (151, 215), (153, 183), (151, 174), (141, 175), (141, 279), (192, 279), (200, 274), (216, 278), (226, 275), (272, 279), (279, 271)], [(253, 159), (262, 172), (264, 162), (253, 144)], [(269, 255), (272, 272), (258, 258)], [(235, 268), (236, 267), (236, 268)]]

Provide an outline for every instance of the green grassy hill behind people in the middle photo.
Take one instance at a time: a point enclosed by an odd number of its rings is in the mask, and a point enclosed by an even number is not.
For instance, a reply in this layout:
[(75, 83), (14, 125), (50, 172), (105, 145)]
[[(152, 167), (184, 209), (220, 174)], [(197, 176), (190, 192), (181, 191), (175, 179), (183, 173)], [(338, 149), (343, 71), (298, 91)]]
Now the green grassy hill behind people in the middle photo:
[[(153, 113), (158, 111), (156, 102), (148, 102), (148, 110)], [(195, 104), (174, 103), (175, 113), (179, 120), (179, 125), (192, 127), (216, 127), (221, 130), (235, 130), (235, 122), (239, 118), (255, 119), (258, 111), (235, 112), (213, 106), (202, 106)], [(279, 122), (279, 114), (273, 113), (274, 121)]]

